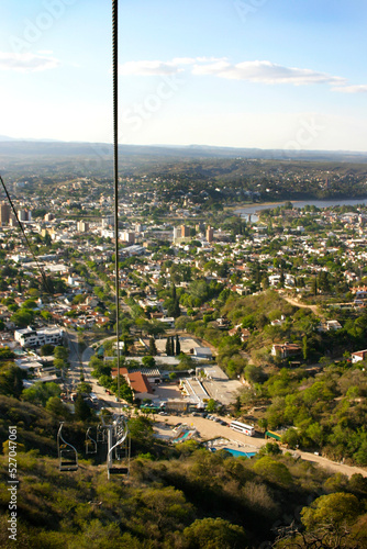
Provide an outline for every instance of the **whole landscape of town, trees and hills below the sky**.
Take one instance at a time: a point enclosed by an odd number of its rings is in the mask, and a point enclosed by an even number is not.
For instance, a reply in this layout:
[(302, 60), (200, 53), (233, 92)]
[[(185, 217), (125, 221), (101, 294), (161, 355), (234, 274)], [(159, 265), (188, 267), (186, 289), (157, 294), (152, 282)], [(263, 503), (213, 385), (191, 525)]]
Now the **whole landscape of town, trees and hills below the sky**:
[(121, 163), (0, 156), (1, 547), (10, 425), (16, 547), (366, 547), (366, 165)]

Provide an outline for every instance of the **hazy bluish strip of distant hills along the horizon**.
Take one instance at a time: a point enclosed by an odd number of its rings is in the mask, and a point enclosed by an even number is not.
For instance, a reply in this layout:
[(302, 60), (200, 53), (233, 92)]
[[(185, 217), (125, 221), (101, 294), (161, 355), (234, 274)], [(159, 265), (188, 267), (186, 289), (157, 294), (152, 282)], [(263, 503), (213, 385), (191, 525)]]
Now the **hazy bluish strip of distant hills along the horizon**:
[[(273, 160), (313, 160), (338, 163), (367, 163), (367, 153), (347, 150), (282, 150), (260, 148), (211, 147), (204, 145), (168, 146), (168, 145), (120, 145), (121, 155), (130, 157), (198, 159), (198, 158), (254, 158)], [(12, 139), (0, 136), (0, 156), (32, 157), (102, 157), (112, 156), (112, 144), (78, 143), (56, 141)]]

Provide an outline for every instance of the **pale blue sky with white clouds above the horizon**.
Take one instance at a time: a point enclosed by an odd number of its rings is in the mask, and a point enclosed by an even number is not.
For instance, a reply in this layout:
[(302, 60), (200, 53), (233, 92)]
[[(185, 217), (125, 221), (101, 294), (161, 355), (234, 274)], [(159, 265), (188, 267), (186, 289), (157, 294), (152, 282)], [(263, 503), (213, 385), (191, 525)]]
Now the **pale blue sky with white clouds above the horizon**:
[[(0, 135), (112, 142), (111, 1), (1, 0)], [(119, 141), (367, 150), (365, 0), (121, 0)]]

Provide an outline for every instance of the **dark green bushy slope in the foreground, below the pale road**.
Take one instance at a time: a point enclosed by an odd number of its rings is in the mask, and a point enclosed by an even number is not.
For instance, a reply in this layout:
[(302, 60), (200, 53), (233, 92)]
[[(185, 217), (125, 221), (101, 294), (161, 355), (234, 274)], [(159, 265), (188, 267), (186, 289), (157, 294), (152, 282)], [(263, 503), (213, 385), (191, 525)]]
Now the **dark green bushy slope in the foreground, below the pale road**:
[[(252, 460), (225, 450), (211, 453), (193, 440), (171, 448), (154, 441), (151, 422), (140, 417), (130, 422), (134, 457), (129, 479), (108, 481), (103, 451), (93, 462), (84, 459), (86, 427), (78, 422), (67, 424), (67, 433), (80, 453), (79, 470), (59, 472), (54, 457), (57, 418), (7, 396), (0, 406), (2, 439), (9, 425), (19, 426), (20, 549), (257, 548), (277, 536), (285, 539), (290, 523), (292, 536), (299, 536), (297, 526), (305, 538), (322, 537), (325, 524), (331, 528), (334, 520), (334, 507), (324, 509), (331, 497), (347, 511), (338, 524), (343, 536), (348, 531), (341, 547), (364, 547), (367, 540), (367, 481), (362, 475), (329, 475), (310, 462), (279, 455), (271, 444)], [(0, 545), (12, 548), (7, 445), (3, 449)]]

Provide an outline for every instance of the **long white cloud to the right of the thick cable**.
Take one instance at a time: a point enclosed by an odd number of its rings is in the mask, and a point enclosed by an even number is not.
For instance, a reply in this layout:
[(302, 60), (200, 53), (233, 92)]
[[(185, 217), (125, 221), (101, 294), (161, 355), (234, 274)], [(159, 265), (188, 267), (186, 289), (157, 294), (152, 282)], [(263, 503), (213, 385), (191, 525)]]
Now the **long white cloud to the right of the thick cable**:
[(267, 60), (243, 61), (232, 65), (220, 60), (208, 65), (194, 65), (194, 75), (212, 75), (232, 80), (247, 80), (251, 82), (291, 83), (304, 86), (313, 83), (327, 83), (331, 86), (343, 86), (346, 80), (341, 77), (331, 76), (326, 72), (318, 72), (311, 69), (296, 67), (283, 67)]

